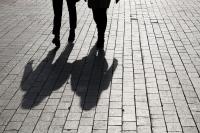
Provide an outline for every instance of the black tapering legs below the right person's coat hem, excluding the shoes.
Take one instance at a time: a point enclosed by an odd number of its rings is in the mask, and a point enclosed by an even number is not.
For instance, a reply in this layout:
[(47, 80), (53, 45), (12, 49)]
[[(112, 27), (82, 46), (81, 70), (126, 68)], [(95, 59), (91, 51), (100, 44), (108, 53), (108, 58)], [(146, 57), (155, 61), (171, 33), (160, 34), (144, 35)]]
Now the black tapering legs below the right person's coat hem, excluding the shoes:
[(107, 26), (107, 8), (92, 9), (94, 21), (97, 25), (98, 40), (104, 41), (104, 34)]

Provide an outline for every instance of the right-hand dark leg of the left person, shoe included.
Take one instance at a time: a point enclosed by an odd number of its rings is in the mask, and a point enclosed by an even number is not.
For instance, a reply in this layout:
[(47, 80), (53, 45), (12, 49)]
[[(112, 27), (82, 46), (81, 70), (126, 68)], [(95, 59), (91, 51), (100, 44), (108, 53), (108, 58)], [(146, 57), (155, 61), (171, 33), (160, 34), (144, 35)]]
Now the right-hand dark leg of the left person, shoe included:
[(77, 25), (76, 2), (74, 0), (67, 0), (67, 6), (69, 11), (69, 24), (70, 24), (70, 33), (68, 41), (73, 42), (75, 39), (75, 29)]

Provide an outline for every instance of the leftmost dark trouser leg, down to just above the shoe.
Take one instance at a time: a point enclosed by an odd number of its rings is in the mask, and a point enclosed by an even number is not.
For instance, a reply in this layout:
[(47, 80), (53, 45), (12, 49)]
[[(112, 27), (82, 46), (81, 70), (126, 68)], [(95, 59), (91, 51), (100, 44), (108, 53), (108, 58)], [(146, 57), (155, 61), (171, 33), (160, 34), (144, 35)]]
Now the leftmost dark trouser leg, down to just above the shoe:
[(53, 0), (53, 11), (54, 11), (53, 34), (55, 36), (60, 35), (60, 27), (62, 20), (62, 5), (63, 5), (63, 0)]

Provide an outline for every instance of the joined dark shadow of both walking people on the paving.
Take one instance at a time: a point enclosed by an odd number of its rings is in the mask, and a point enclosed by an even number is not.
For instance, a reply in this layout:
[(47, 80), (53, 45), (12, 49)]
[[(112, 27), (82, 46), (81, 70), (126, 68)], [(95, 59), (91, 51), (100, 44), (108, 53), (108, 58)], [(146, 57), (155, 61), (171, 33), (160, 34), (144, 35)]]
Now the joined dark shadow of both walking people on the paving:
[(68, 63), (73, 46), (68, 44), (54, 63), (56, 48), (49, 51), (35, 70), (33, 61), (27, 63), (21, 82), (21, 89), (25, 91), (22, 108), (31, 109), (39, 105), (68, 80), (73, 92), (80, 97), (83, 110), (90, 110), (97, 105), (102, 91), (109, 87), (118, 62), (114, 59), (108, 68), (105, 52), (96, 51), (93, 47), (88, 56)]

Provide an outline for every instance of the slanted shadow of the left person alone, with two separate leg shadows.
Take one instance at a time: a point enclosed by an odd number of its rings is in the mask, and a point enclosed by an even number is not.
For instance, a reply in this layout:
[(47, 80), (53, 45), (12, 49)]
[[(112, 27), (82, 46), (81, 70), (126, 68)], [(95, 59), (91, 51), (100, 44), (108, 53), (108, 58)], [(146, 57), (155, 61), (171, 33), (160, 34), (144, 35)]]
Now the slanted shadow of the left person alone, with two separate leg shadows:
[(26, 64), (21, 82), (21, 89), (25, 91), (22, 108), (31, 109), (39, 105), (53, 91), (67, 82), (70, 75), (68, 70), (71, 68), (71, 63), (67, 60), (73, 46), (74, 44), (68, 44), (54, 63), (57, 48), (49, 51), (35, 70), (33, 70), (32, 60)]

